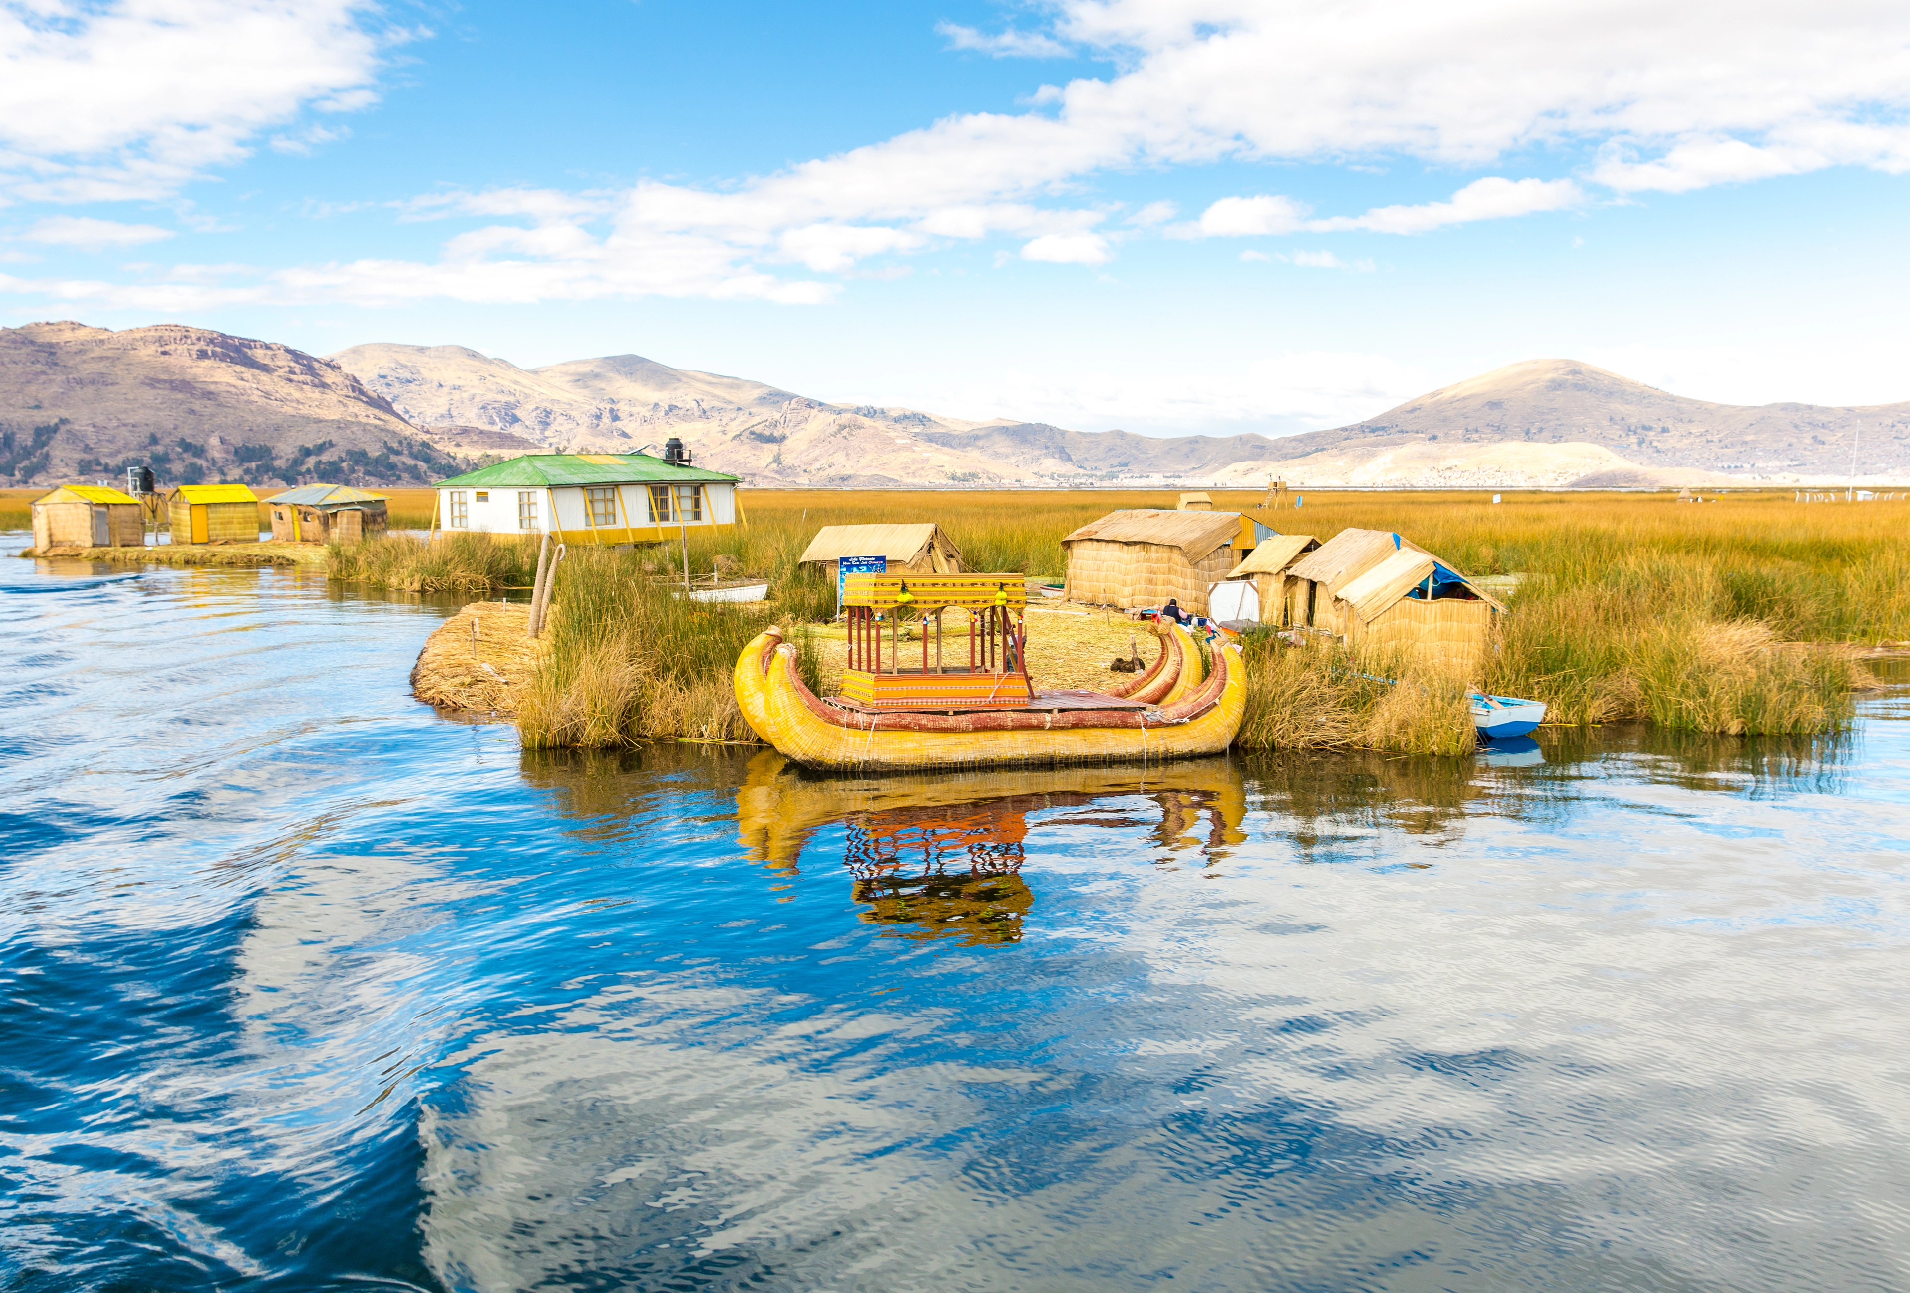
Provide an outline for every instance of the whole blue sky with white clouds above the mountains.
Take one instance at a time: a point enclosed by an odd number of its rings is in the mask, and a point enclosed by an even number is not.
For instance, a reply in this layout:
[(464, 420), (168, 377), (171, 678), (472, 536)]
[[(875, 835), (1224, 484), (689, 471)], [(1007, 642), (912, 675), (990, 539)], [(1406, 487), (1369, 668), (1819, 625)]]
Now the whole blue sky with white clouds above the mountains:
[(1910, 399), (1900, 0), (0, 0), (0, 325), (1291, 434)]

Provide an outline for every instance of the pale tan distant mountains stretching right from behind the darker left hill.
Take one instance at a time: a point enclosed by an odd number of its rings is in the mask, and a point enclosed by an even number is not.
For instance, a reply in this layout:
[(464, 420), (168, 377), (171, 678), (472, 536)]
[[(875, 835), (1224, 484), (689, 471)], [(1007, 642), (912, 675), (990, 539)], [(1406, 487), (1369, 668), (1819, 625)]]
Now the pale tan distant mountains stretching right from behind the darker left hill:
[(413, 422), (489, 426), (573, 449), (682, 437), (760, 485), (1226, 483), (1681, 485), (1910, 474), (1910, 403), (1872, 409), (1683, 399), (1572, 359), (1534, 359), (1305, 435), (1070, 432), (831, 405), (640, 355), (518, 369), (458, 346), (332, 355)]

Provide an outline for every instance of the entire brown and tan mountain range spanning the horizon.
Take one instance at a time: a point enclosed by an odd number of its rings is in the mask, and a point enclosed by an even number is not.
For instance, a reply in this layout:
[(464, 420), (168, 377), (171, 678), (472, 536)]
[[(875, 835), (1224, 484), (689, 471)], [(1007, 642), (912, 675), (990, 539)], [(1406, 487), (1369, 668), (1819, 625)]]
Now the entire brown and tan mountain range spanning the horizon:
[(1303, 435), (1073, 432), (810, 399), (640, 355), (520, 369), (462, 346), (329, 357), (208, 329), (0, 329), (0, 481), (405, 485), (537, 451), (678, 437), (760, 487), (1641, 487), (1910, 477), (1910, 403), (1717, 405), (1532, 359)]

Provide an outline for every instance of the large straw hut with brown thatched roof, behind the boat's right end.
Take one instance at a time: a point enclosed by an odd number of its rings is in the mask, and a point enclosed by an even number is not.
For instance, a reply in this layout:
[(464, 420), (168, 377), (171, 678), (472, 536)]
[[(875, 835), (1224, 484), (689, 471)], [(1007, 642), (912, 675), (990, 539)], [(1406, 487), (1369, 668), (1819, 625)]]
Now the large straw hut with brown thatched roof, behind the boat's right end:
[(1240, 512), (1110, 512), (1062, 539), (1068, 600), (1091, 605), (1165, 605), (1207, 613), (1219, 583), (1270, 529)]

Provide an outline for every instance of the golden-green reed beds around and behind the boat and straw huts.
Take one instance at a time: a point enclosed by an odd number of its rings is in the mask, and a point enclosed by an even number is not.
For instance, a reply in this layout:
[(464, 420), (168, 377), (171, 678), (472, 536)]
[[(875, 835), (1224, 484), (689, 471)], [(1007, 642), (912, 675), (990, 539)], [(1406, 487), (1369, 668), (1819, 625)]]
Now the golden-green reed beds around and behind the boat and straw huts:
[[(1511, 615), (1469, 678), (1389, 672), (1345, 649), (1287, 647), (1249, 634), (1249, 749), (1473, 749), (1473, 689), (1545, 701), (1547, 726), (1645, 720), (1734, 735), (1834, 731), (1855, 693), (1878, 686), (1866, 647), (1910, 638), (1904, 504), (1795, 504), (1732, 497), (1675, 504), (1667, 495), (1322, 495), (1303, 510), (1263, 512), (1276, 529), (1329, 539), (1345, 527), (1398, 531), (1471, 575), (1518, 575)], [(1215, 495), (1255, 510), (1259, 493)], [(718, 558), (768, 579), (766, 604), (674, 596), (682, 552), (573, 548), (556, 577), (548, 646), (516, 720), (525, 747), (617, 747), (649, 739), (753, 741), (730, 695), (737, 651), (779, 625), (806, 682), (829, 676), (833, 581), (796, 558), (819, 525), (940, 521), (970, 569), (1060, 579), (1060, 539), (1117, 506), (1173, 506), (1159, 493), (770, 493), (751, 495), (751, 525), (690, 542), (691, 571)], [(336, 550), (330, 571), (388, 588), (481, 594), (529, 586), (537, 550), (514, 539), (455, 535), (424, 546), (392, 537)], [(1047, 617), (1033, 649), (1052, 632)], [(1119, 613), (1108, 623), (1123, 625)], [(1125, 632), (1119, 646), (1125, 647)], [(1140, 634), (1152, 653), (1152, 638)], [(1117, 651), (1083, 661), (1106, 672)], [(1085, 649), (1085, 647), (1083, 647)], [(1121, 651), (1125, 653), (1125, 651)], [(1045, 682), (1039, 667), (1037, 684)], [(1396, 676), (1400, 686), (1369, 674)], [(1089, 686), (1079, 674), (1049, 686)]]

